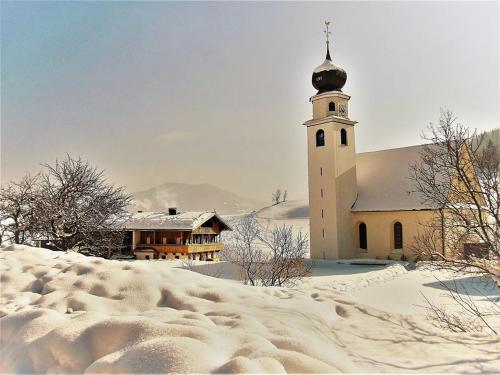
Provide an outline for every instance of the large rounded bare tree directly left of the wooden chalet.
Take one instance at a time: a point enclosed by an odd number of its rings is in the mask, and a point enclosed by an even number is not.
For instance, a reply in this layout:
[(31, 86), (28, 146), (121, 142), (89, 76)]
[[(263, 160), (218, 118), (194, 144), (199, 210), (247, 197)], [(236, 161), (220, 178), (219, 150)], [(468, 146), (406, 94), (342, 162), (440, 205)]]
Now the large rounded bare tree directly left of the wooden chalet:
[(110, 257), (123, 245), (121, 223), (130, 196), (81, 158), (44, 165), (35, 200), (37, 230), (57, 250)]

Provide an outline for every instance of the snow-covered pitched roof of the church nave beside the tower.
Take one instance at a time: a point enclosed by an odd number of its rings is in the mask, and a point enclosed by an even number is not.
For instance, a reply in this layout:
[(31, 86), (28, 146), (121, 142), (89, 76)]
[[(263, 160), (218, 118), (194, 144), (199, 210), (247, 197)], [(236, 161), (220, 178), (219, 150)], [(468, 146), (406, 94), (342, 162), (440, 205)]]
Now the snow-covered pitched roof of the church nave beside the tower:
[(420, 159), (424, 145), (364, 152), (356, 155), (358, 198), (352, 211), (410, 211), (433, 209), (415, 192), (410, 165)]

